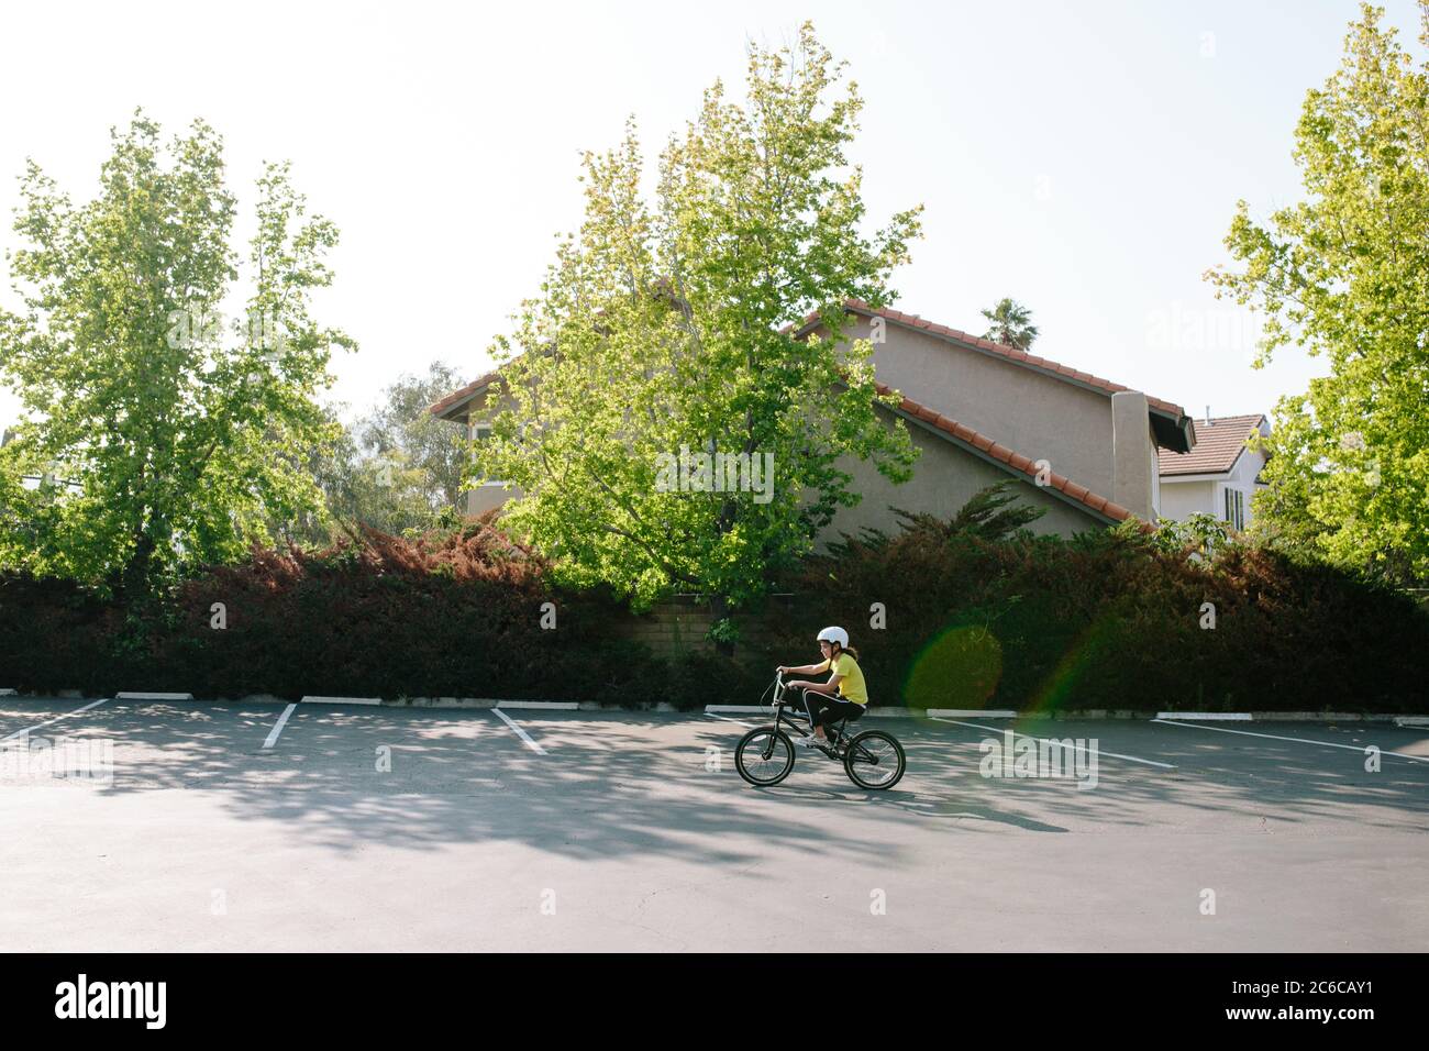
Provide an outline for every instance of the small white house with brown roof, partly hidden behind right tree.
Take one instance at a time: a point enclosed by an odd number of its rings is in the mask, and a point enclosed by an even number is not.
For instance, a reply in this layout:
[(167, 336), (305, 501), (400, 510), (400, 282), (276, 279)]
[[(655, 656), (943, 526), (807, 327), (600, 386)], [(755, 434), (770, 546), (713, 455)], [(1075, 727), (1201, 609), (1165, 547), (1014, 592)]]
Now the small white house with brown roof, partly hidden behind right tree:
[(1196, 423), (1195, 449), (1159, 450), (1162, 516), (1180, 520), (1200, 512), (1235, 529), (1250, 525), (1250, 496), (1265, 489), (1266, 458), (1246, 442), (1269, 435), (1263, 415), (1212, 419), (1208, 410)]

